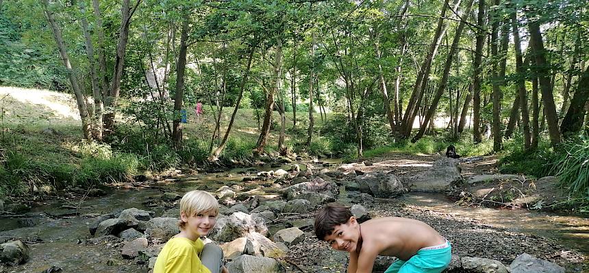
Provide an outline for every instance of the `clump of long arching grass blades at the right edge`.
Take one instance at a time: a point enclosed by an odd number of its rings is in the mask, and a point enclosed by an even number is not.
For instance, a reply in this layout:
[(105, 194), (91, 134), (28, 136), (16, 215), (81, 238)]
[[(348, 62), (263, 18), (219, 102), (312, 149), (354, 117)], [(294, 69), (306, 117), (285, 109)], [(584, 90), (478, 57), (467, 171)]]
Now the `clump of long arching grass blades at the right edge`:
[(573, 197), (585, 198), (589, 203), (589, 138), (562, 143), (552, 171)]

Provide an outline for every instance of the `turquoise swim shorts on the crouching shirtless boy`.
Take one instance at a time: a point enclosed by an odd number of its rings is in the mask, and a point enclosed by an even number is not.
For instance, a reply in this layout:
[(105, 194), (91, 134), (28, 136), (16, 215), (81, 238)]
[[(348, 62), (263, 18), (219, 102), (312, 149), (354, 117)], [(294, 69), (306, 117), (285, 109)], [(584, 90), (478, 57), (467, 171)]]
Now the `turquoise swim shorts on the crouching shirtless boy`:
[(438, 246), (421, 248), (407, 261), (394, 261), (384, 273), (440, 273), (448, 267), (451, 259), (452, 246), (446, 241)]

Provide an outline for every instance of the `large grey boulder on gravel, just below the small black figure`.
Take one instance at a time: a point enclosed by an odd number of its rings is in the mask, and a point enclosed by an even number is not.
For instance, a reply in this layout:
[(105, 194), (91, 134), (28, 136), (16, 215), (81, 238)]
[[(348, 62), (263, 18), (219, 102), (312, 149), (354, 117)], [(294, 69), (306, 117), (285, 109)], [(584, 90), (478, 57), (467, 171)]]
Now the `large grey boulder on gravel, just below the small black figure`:
[(416, 192), (445, 192), (453, 183), (462, 183), (458, 160), (449, 157), (438, 159), (429, 170), (408, 178), (408, 187)]

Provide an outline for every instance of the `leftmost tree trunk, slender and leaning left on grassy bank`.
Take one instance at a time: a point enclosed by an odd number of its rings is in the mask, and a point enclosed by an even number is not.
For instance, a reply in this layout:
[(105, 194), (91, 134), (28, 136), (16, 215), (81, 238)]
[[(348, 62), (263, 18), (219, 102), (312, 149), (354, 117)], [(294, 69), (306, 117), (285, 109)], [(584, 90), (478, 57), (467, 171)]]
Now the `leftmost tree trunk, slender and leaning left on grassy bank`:
[(70, 79), (73, 92), (75, 94), (77, 109), (79, 111), (79, 117), (82, 120), (82, 132), (84, 133), (84, 138), (86, 140), (92, 140), (92, 131), (90, 128), (90, 117), (88, 116), (88, 107), (86, 106), (86, 102), (84, 101), (84, 94), (82, 93), (82, 88), (79, 87), (77, 78), (75, 77), (75, 72), (71, 66), (66, 45), (64, 44), (62, 31), (58, 23), (55, 21), (55, 17), (53, 16), (54, 14), (51, 11), (51, 8), (49, 8), (49, 0), (42, 0), (42, 4), (43, 12), (45, 12), (45, 15), (47, 16), (47, 21), (49, 21), (49, 25), (51, 25), (51, 30), (53, 31), (53, 38), (55, 38), (55, 43), (58, 45), (62, 61), (64, 62), (66, 70), (68, 71), (67, 74)]

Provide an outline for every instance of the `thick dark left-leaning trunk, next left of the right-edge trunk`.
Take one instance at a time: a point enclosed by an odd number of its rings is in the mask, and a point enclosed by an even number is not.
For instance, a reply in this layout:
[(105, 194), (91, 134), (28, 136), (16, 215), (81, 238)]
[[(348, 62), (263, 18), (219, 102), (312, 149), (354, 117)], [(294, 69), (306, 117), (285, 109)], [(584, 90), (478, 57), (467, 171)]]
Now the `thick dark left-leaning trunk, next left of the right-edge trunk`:
[(551, 83), (549, 78), (549, 64), (544, 57), (544, 42), (540, 34), (540, 24), (537, 21), (528, 21), (531, 49), (536, 57), (538, 67), (538, 77), (540, 78), (540, 90), (542, 90), (542, 102), (544, 103), (544, 112), (548, 122), (548, 131), (552, 145), (558, 144), (560, 140), (560, 131), (558, 129), (558, 117), (556, 116), (556, 105), (552, 95)]

